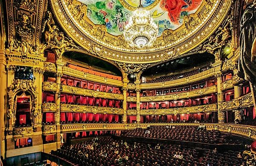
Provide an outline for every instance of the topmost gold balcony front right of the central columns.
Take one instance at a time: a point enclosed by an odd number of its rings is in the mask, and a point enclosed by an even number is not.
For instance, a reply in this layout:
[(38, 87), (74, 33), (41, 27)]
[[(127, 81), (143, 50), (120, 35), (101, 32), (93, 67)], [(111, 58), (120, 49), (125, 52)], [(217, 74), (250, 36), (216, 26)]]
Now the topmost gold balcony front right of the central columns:
[(208, 69), (204, 72), (180, 78), (177, 80), (171, 80), (166, 82), (159, 82), (159, 83), (142, 83), (140, 84), (140, 89), (157, 89), (157, 88), (171, 88), (175, 86), (183, 86), (186, 84), (191, 84), (193, 82), (201, 81), (207, 79), (209, 77), (214, 77), (215, 75), (215, 68)]

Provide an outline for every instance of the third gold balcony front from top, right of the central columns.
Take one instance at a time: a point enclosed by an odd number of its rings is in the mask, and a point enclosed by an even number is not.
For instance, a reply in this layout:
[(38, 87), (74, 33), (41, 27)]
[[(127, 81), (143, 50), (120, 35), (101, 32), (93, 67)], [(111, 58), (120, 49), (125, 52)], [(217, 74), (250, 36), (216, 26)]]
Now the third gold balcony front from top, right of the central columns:
[[(217, 104), (174, 109), (140, 109), (140, 115), (194, 114), (217, 111)], [(128, 112), (127, 112), (128, 114)]]

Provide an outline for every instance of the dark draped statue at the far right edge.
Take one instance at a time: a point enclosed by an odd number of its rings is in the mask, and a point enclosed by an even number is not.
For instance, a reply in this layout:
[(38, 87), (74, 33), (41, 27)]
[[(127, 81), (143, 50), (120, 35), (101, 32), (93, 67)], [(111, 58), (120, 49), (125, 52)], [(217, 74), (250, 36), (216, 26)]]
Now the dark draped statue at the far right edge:
[(238, 75), (250, 82), (254, 94), (256, 89), (256, 0), (245, 0), (245, 3), (247, 6), (240, 23)]

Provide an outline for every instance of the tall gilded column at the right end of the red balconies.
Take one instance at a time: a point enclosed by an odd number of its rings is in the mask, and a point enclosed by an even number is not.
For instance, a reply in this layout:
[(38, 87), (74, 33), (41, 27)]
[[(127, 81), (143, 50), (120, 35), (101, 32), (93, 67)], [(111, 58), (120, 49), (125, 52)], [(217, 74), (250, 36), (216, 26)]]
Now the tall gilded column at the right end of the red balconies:
[(221, 102), (224, 99), (224, 95), (221, 91), (221, 83), (223, 82), (223, 75), (221, 72), (218, 72), (215, 74), (215, 77), (217, 77), (217, 91), (218, 91), (218, 123), (224, 123), (225, 114), (223, 110), (221, 110)]

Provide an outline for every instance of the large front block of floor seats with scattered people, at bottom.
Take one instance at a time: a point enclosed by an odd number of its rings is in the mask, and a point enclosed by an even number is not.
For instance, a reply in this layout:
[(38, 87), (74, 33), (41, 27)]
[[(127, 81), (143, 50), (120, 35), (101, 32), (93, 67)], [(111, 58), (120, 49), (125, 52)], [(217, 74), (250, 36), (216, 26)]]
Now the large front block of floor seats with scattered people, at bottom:
[(52, 155), (77, 166), (238, 166), (240, 152), (183, 148), (169, 144), (126, 143), (99, 137), (61, 146)]

